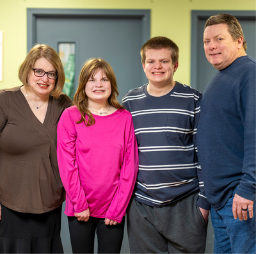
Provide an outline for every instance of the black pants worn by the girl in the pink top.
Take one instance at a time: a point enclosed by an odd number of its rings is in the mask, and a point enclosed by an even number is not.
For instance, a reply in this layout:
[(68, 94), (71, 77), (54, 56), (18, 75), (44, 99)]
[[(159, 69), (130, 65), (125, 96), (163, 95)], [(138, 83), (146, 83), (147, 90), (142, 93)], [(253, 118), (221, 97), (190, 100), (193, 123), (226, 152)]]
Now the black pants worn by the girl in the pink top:
[(124, 236), (125, 218), (120, 224), (105, 225), (104, 219), (90, 217), (86, 222), (68, 217), (68, 226), (73, 253), (93, 253), (95, 232), (98, 253), (120, 253)]

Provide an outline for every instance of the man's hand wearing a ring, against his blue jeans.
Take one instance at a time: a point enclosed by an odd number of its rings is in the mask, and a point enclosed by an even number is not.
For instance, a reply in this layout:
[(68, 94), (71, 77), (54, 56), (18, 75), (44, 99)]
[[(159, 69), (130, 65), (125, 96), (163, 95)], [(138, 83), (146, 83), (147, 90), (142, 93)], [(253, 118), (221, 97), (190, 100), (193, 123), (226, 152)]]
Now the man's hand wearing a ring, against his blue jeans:
[(232, 211), (234, 219), (239, 218), (240, 221), (246, 221), (248, 218), (247, 214), (249, 211), (249, 216), (252, 219), (253, 217), (253, 201), (246, 200), (246, 198), (242, 198), (241, 196), (235, 194), (233, 199)]

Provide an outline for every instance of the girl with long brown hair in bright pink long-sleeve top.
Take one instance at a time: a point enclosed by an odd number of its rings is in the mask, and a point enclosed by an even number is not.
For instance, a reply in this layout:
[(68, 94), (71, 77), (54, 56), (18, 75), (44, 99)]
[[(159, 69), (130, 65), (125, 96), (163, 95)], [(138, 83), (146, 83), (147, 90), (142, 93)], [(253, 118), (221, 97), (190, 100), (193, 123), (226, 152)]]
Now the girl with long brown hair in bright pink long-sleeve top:
[(84, 63), (58, 123), (57, 155), (67, 191), (65, 214), (73, 253), (120, 253), (125, 212), (138, 174), (131, 113), (118, 100), (116, 77), (100, 58)]

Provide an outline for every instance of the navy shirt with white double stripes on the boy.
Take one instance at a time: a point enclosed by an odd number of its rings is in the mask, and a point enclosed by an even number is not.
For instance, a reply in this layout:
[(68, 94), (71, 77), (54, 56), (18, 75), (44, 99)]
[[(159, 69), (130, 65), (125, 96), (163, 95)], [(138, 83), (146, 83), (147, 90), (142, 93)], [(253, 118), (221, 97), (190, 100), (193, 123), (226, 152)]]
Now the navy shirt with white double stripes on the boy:
[[(199, 189), (193, 138), (201, 97), (195, 89), (177, 82), (161, 97), (149, 95), (147, 84), (124, 96), (122, 102), (132, 114), (139, 148), (135, 188), (139, 202), (161, 207)], [(200, 198), (207, 202), (204, 196)]]

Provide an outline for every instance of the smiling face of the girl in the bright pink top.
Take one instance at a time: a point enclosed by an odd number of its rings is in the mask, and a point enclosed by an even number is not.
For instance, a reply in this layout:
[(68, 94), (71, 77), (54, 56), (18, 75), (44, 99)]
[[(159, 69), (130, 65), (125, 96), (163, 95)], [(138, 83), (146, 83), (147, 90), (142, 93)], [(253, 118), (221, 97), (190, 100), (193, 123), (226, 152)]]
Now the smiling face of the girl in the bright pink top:
[(104, 104), (108, 102), (111, 95), (111, 83), (101, 69), (88, 79), (85, 86), (85, 93), (88, 97), (88, 104), (95, 102)]

